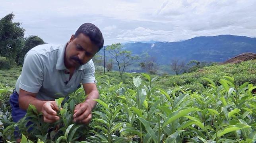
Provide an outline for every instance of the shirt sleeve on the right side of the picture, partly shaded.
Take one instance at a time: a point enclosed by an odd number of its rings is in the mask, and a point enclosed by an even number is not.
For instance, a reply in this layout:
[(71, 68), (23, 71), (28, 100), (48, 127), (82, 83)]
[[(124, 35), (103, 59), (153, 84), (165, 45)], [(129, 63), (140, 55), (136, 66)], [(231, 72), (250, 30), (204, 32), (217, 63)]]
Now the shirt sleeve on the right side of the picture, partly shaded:
[(95, 76), (94, 76), (95, 68), (92, 60), (89, 60), (84, 70), (85, 72), (83, 74), (82, 84), (95, 83)]

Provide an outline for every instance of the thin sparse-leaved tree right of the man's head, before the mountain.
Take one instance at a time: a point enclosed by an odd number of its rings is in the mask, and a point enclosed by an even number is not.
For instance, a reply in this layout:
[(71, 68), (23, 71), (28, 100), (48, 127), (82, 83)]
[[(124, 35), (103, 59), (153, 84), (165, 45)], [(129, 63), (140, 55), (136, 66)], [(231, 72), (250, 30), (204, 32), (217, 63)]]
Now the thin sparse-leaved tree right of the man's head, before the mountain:
[(120, 43), (112, 44), (106, 48), (111, 58), (117, 63), (120, 76), (122, 76), (128, 66), (134, 63), (134, 60), (138, 59), (138, 56), (132, 56), (131, 51), (123, 50), (123, 48)]

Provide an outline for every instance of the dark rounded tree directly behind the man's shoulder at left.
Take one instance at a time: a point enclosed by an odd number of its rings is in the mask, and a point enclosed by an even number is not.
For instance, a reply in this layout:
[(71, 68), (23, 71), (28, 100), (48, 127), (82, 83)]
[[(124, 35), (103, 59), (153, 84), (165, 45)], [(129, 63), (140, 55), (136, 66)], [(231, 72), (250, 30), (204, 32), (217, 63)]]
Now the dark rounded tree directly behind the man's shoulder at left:
[(16, 56), (17, 65), (23, 65), (23, 60), (26, 53), (33, 47), (41, 44), (45, 44), (45, 42), (43, 41), (43, 39), (41, 39), (38, 36), (31, 35), (25, 38), (24, 47), (20, 50), (20, 52)]

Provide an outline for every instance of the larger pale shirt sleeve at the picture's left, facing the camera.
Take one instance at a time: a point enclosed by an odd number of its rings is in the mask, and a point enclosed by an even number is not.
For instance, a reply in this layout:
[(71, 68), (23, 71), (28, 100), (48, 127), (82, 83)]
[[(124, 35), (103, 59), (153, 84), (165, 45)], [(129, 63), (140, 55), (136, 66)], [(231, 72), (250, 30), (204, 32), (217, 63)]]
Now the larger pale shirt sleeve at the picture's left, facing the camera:
[(43, 60), (39, 53), (30, 50), (24, 58), (19, 88), (38, 93), (44, 79)]

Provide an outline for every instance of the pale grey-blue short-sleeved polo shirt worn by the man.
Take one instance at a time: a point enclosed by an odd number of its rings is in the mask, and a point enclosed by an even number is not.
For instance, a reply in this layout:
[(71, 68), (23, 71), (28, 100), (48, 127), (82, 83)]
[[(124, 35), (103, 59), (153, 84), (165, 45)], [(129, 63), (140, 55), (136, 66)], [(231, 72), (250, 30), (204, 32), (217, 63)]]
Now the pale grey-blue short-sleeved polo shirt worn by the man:
[(37, 93), (40, 100), (54, 100), (76, 91), (80, 83), (95, 83), (92, 60), (76, 69), (69, 80), (69, 70), (64, 65), (65, 45), (38, 45), (25, 55), (21, 75), (16, 82), (19, 88)]

